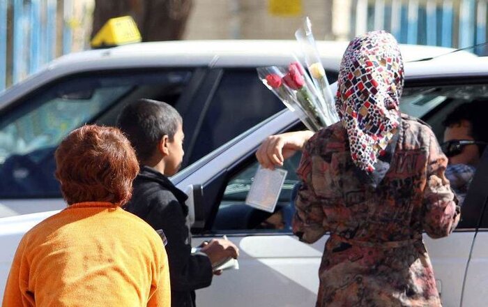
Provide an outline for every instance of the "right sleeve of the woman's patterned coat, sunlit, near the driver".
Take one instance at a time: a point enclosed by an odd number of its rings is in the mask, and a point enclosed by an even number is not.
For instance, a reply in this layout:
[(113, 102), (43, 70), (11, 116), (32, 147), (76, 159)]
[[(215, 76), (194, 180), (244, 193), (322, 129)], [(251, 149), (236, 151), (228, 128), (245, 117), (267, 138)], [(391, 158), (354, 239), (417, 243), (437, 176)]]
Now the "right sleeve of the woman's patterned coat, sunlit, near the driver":
[(444, 156), (437, 139), (430, 131), (427, 159), (427, 183), (423, 195), (422, 225), (432, 238), (447, 237), (459, 222), (457, 198), (445, 178), (448, 158)]

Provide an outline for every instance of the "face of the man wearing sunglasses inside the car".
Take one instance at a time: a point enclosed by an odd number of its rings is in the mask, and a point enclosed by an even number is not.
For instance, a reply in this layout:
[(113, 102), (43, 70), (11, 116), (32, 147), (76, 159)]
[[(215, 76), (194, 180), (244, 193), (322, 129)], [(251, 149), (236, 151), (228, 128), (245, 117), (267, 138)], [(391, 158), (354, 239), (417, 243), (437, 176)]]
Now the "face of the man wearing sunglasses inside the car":
[[(450, 140), (474, 140), (469, 131), (471, 124), (468, 121), (455, 123), (444, 130), (444, 142)], [(462, 147), (461, 153), (449, 157), (449, 164), (477, 165), (480, 161), (480, 151), (475, 144), (468, 144)]]

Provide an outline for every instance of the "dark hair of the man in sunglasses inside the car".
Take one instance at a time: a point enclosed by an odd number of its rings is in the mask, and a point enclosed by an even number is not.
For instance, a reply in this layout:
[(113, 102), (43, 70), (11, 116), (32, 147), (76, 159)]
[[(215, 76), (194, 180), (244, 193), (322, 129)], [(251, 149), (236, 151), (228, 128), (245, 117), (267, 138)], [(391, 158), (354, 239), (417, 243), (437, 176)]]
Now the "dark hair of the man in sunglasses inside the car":
[[(471, 103), (458, 105), (442, 122), (444, 127), (461, 124), (468, 121), (470, 129), (468, 134), (476, 141), (488, 142), (488, 123), (485, 119), (488, 114), (488, 100), (473, 100)], [(480, 154), (485, 150), (485, 145), (478, 145)]]

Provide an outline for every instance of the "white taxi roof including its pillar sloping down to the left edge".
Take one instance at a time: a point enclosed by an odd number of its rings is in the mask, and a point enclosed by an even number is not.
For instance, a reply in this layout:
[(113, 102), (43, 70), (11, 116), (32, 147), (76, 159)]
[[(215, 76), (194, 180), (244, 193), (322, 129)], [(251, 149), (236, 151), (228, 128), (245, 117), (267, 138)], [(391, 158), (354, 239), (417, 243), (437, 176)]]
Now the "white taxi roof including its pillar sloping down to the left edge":
[[(317, 41), (317, 49), (326, 70), (339, 69), (348, 44), (346, 41)], [(299, 48), (296, 40), (178, 40), (75, 52), (48, 63), (38, 73), (0, 93), (0, 110), (26, 92), (75, 73), (148, 67), (287, 65), (293, 59), (293, 54), (298, 54)], [(422, 45), (400, 45), (400, 49), (406, 62), (453, 51), (452, 48)], [(455, 57), (476, 58), (469, 52), (456, 52)]]

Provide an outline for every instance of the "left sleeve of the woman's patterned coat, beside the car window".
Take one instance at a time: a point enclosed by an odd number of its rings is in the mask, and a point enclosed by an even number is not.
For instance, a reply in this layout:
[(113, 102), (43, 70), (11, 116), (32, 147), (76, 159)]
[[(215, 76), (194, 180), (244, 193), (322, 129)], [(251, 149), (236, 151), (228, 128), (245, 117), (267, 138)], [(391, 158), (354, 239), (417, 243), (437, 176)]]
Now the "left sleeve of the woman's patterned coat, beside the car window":
[[(297, 174), (302, 183), (295, 200), (295, 214), (293, 216), (293, 233), (300, 241), (314, 243), (326, 233), (323, 227), (322, 204), (312, 185), (312, 156), (310, 150), (316, 137), (312, 137), (302, 153)], [(323, 161), (325, 163), (325, 161)]]

